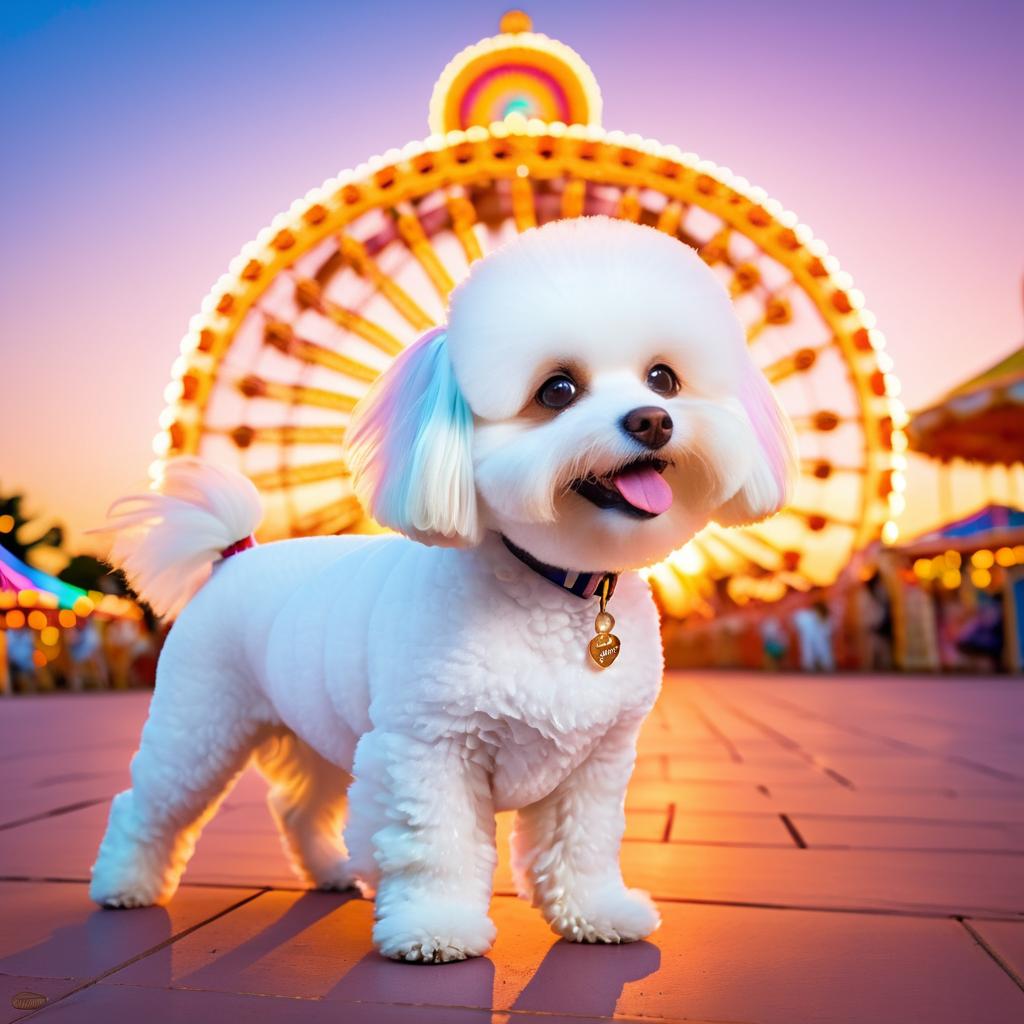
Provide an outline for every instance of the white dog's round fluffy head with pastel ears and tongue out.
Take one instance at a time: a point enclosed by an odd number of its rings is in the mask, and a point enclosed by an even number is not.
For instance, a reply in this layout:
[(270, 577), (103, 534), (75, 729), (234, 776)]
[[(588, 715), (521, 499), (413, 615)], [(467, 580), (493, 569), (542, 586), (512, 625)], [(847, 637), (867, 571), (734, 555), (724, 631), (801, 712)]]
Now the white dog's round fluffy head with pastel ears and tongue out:
[(449, 324), (356, 408), (356, 495), (427, 544), (500, 530), (570, 568), (626, 569), (714, 519), (785, 504), (790, 423), (696, 253), (606, 217), (526, 231), (473, 266)]

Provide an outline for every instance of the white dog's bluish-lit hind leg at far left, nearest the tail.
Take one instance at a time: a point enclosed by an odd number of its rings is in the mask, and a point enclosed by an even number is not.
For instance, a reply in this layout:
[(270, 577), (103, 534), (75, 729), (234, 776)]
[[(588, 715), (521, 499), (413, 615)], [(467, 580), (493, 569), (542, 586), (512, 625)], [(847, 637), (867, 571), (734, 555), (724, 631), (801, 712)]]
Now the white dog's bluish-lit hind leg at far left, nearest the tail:
[(158, 681), (131, 788), (114, 798), (92, 867), (97, 903), (148, 906), (174, 895), (200, 831), (266, 733), (251, 695), (225, 682), (201, 674), (183, 685)]

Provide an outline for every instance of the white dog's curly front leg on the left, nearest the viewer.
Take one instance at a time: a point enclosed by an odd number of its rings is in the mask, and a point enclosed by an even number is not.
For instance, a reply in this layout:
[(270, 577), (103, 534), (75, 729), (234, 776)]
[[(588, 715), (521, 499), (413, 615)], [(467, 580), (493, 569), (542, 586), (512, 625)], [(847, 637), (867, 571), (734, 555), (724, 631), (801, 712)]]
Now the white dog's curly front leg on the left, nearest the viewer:
[(465, 735), (433, 742), (374, 730), (359, 741), (345, 841), (376, 888), (374, 942), (393, 959), (479, 956), (497, 856), (489, 767)]

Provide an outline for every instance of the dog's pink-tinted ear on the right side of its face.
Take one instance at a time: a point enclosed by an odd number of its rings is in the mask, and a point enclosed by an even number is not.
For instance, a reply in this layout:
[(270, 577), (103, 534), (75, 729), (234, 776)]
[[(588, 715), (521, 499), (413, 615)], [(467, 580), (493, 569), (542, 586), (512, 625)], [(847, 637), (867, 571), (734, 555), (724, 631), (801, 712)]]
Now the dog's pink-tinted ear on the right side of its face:
[(793, 424), (764, 375), (746, 359), (739, 400), (754, 429), (757, 451), (746, 479), (713, 516), (722, 526), (743, 526), (774, 515), (793, 497), (797, 443)]

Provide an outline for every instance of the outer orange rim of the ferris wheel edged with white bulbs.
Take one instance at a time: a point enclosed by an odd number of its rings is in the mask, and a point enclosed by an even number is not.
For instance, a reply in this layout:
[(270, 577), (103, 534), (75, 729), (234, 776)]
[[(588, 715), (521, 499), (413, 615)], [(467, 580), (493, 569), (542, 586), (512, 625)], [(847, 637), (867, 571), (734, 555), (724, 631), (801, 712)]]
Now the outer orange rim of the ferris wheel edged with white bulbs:
[[(473, 126), (465, 131), (431, 135), (411, 142), (401, 150), (391, 150), (372, 158), (352, 170), (343, 171), (329, 178), (319, 188), (307, 193), (302, 200), (293, 203), (287, 212), (279, 214), (255, 240), (244, 246), (229, 264), (228, 272), (217, 281), (204, 299), (201, 313), (193, 317), (189, 331), (182, 339), (181, 355), (172, 368), (174, 379), (170, 387), (173, 389), (175, 382), (183, 381), (190, 370), (200, 371), (201, 379), (206, 381), (206, 386), (200, 387), (198, 393), (193, 395), (179, 393), (170, 396), (168, 411), (165, 411), (165, 416), (162, 418), (162, 433), (155, 441), (158, 455), (197, 451), (200, 436), (197, 432), (191, 434), (193, 443), (175, 440), (169, 435), (172, 423), (176, 422), (173, 411), (188, 408), (198, 415), (202, 423), (222, 356), (246, 314), (269, 284), (276, 280), (282, 271), (290, 269), (300, 256), (332, 232), (343, 228), (368, 208), (380, 205), (367, 202), (365, 198), (359, 202), (358, 196), (361, 189), (386, 190), (399, 177), (408, 177), (418, 183), (412, 187), (407, 184), (403, 190), (393, 194), (391, 199), (394, 202), (420, 199), (441, 186), (465, 184), (465, 180), (460, 179), (466, 179), (471, 174), (471, 165), (474, 164), (473, 147), (488, 141), (528, 139), (537, 143), (545, 138), (553, 141), (564, 139), (569, 143), (585, 143), (592, 146), (610, 146), (616, 150), (621, 164), (618, 174), (609, 178), (606, 173), (608, 163), (591, 158), (590, 167), (582, 166), (573, 169), (575, 176), (587, 181), (635, 186), (638, 184), (636, 179), (639, 177), (637, 171), (640, 164), (644, 159), (650, 158), (663, 162), (666, 167), (672, 166), (677, 169), (677, 185), (679, 172), (696, 176), (694, 178), (696, 187), (703, 191), (703, 201), (698, 205), (713, 212), (733, 229), (751, 238), (767, 255), (790, 270), (801, 290), (812, 300), (824, 323), (833, 330), (834, 338), (839, 343), (844, 361), (850, 371), (861, 414), (867, 474), (865, 495), (881, 484), (883, 474), (898, 473), (893, 461), (886, 466), (874, 464), (878, 460), (872, 459), (877, 453), (886, 453), (891, 457), (897, 451), (898, 445), (903, 443), (902, 424), (905, 422), (905, 413), (893, 394), (895, 388), (892, 387), (891, 380), (895, 379), (879, 371), (877, 360), (873, 358), (884, 351), (884, 338), (873, 327), (871, 314), (862, 308), (862, 297), (853, 288), (850, 275), (841, 270), (838, 260), (829, 255), (824, 243), (816, 240), (811, 229), (800, 223), (796, 214), (770, 199), (764, 189), (751, 185), (745, 178), (733, 175), (728, 168), (701, 160), (696, 154), (683, 153), (677, 146), (663, 145), (653, 139), (646, 139), (636, 134), (606, 131), (597, 125), (567, 126), (557, 122), (526, 121), (514, 117), (496, 122), (489, 128)], [(423, 158), (450, 154), (460, 146), (469, 147), (468, 157), (461, 161), (465, 173), (459, 173), (458, 165), (455, 165), (451, 168), (455, 173), (438, 181), (433, 174), (423, 174), (422, 169), (416, 171), (412, 166), (414, 162)], [(529, 152), (519, 152), (515, 156), (526, 161), (537, 159), (536, 154)], [(550, 157), (545, 160), (550, 161)], [(510, 173), (508, 168), (513, 165), (514, 161), (508, 161), (502, 167), (492, 166), (490, 171), (497, 172), (492, 176), (512, 178), (514, 172)], [(518, 168), (522, 165), (515, 166)], [(595, 169), (593, 173), (590, 173), (591, 168)], [(596, 168), (601, 168), (605, 173), (598, 173)], [(547, 168), (543, 164), (537, 167), (527, 165), (526, 169), (527, 176), (541, 180), (565, 172), (566, 161), (550, 161)], [(414, 173), (410, 174), (410, 171)], [(615, 177), (622, 180), (616, 181)], [(666, 176), (666, 182), (672, 179), (673, 175)], [(668, 195), (668, 189), (667, 184), (663, 188), (663, 194)], [(682, 191), (682, 189), (677, 190)], [(764, 230), (759, 234), (757, 230), (759, 226), (778, 228), (787, 232), (785, 247), (780, 248), (776, 241), (767, 239)], [(769, 245), (763, 245), (765, 241), (768, 241)], [(788, 249), (791, 254), (809, 254), (811, 261), (798, 260), (796, 255), (787, 256), (785, 249)], [(831, 286), (827, 296), (823, 282)], [(856, 331), (859, 348), (854, 346), (851, 324), (844, 324), (844, 317), (851, 315), (858, 323)], [(227, 344), (218, 343), (218, 339), (227, 339)], [(867, 360), (863, 358), (864, 355), (868, 356)], [(868, 367), (866, 365), (868, 361), (872, 361), (873, 366)], [(884, 393), (879, 393), (877, 380), (873, 382), (869, 380), (872, 375), (877, 378), (880, 372)], [(873, 394), (870, 393), (872, 383)], [(890, 421), (888, 441), (881, 436), (881, 423), (884, 417), (878, 415), (872, 408), (879, 404), (873, 399), (880, 399), (888, 407)], [(883, 530), (891, 524), (890, 516), (886, 519)], [(877, 521), (872, 522), (869, 517), (863, 517), (855, 546), (862, 546), (868, 539), (868, 534), (876, 530), (878, 525)]]

